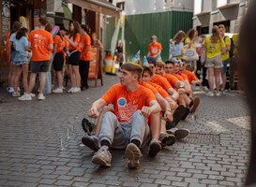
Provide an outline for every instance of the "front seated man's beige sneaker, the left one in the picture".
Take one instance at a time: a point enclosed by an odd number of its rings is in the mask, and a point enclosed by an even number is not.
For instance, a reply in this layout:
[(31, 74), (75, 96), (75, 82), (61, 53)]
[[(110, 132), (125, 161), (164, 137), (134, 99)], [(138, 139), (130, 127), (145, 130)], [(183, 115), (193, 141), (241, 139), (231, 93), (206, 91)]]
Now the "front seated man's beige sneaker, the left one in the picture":
[(111, 161), (112, 155), (107, 146), (102, 146), (92, 158), (92, 163), (97, 165), (111, 166)]

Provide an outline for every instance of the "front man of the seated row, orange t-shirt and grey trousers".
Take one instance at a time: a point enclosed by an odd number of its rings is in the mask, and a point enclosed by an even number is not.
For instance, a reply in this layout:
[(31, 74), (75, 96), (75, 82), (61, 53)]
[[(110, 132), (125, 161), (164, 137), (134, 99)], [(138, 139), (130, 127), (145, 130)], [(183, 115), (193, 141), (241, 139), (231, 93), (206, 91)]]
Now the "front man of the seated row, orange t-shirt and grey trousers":
[[(101, 147), (93, 156), (93, 163), (111, 166), (112, 154), (109, 148), (112, 147), (126, 149), (129, 168), (139, 167), (142, 156), (140, 148), (149, 138), (149, 126), (145, 118), (160, 111), (155, 95), (139, 84), (142, 72), (141, 65), (122, 65), (120, 83), (114, 84), (89, 109), (88, 116), (97, 118), (100, 108), (113, 104), (113, 112), (108, 111), (103, 116), (98, 136)], [(155, 153), (157, 144), (158, 140), (151, 139), (149, 153)]]

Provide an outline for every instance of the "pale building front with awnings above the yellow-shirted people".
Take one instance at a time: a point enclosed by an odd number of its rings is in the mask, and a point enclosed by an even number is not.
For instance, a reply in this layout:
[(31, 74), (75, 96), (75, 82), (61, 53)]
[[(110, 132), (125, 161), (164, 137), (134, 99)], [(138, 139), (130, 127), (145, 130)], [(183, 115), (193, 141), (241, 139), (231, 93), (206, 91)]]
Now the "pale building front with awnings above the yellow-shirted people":
[(201, 35), (224, 24), (226, 32), (238, 33), (247, 7), (248, 0), (194, 0), (193, 28)]

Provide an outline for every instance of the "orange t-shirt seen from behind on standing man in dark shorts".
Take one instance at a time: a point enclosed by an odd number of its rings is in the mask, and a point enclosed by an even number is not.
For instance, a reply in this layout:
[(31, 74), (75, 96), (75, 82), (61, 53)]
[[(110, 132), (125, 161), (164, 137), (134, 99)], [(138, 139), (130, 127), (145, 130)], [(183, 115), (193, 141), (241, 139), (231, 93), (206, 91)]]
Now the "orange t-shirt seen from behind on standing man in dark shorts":
[(50, 53), (48, 47), (53, 44), (53, 36), (45, 30), (33, 30), (28, 36), (28, 41), (31, 43), (32, 62), (48, 61), (50, 60)]

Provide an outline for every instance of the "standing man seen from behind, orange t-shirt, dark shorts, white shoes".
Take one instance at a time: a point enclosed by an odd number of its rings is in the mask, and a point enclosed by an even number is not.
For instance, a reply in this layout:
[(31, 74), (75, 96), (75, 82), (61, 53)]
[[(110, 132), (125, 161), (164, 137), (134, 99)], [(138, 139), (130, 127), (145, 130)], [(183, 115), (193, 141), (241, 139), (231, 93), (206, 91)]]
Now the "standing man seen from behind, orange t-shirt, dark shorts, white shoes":
[(51, 33), (45, 31), (45, 25), (47, 24), (46, 18), (39, 18), (38, 30), (33, 30), (28, 36), (29, 46), (32, 50), (32, 58), (30, 62), (30, 79), (28, 92), (19, 97), (19, 100), (32, 100), (31, 91), (35, 86), (37, 74), (40, 75), (40, 86), (38, 100), (44, 100), (45, 97), (42, 94), (45, 88), (46, 72), (49, 68), (49, 61), (51, 59), (50, 53), (53, 50), (53, 36)]

